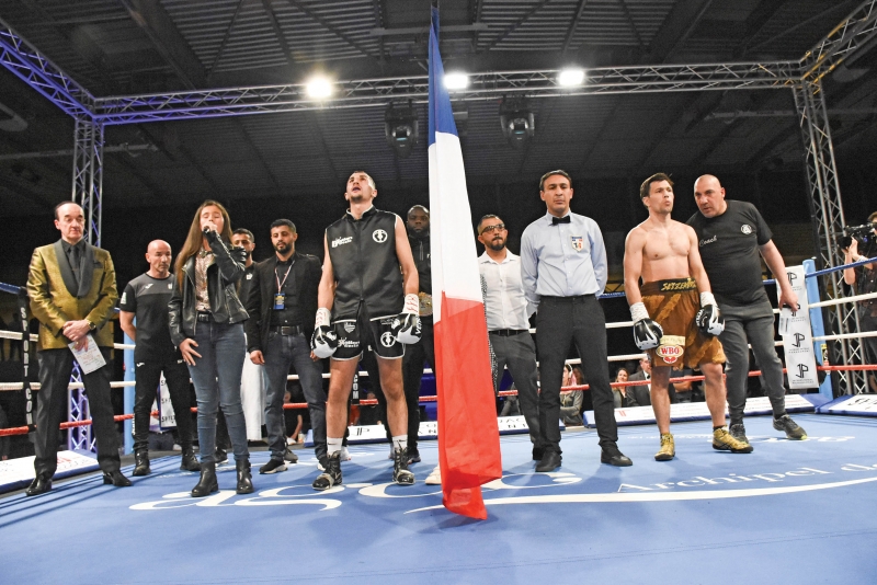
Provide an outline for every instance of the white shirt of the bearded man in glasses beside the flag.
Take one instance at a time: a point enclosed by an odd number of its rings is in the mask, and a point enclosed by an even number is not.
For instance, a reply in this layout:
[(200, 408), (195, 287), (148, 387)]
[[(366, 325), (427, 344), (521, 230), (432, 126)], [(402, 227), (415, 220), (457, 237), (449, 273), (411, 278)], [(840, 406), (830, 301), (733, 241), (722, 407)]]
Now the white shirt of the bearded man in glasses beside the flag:
[(485, 278), (488, 331), (498, 329), (529, 329), (527, 300), (521, 280), (521, 256), (505, 251), (505, 259), (497, 262), (487, 252), (478, 257), (478, 271)]

